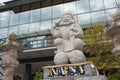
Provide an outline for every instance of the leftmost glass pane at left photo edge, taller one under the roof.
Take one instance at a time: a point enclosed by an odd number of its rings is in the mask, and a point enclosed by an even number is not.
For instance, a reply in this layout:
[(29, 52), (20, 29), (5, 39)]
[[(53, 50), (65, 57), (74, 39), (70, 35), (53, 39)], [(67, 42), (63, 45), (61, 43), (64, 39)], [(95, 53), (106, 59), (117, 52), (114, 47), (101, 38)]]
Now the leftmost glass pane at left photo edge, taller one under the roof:
[(9, 12), (0, 13), (0, 27), (6, 27), (9, 25)]

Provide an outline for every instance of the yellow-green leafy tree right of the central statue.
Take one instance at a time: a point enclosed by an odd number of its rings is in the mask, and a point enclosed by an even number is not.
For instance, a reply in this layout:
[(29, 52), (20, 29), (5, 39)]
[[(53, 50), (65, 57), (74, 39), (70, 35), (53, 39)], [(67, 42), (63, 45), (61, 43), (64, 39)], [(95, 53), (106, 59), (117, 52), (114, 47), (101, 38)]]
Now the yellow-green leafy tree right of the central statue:
[(104, 25), (95, 24), (82, 36), (85, 42), (84, 51), (90, 56), (89, 61), (97, 68), (111, 68), (120, 65), (120, 59), (111, 54), (113, 41), (104, 33)]

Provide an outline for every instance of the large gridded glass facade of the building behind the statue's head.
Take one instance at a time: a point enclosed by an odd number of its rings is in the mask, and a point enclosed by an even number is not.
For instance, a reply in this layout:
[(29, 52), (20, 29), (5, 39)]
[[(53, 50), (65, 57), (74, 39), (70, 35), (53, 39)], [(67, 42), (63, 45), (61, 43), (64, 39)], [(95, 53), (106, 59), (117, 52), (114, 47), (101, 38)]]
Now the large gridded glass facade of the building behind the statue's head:
[[(50, 1), (50, 0), (49, 0)], [(60, 1), (60, 0), (59, 0)], [(58, 3), (59, 3), (58, 1)], [(6, 38), (11, 32), (26, 34), (45, 29), (50, 29), (65, 12), (71, 12), (81, 27), (86, 24), (111, 20), (110, 14), (117, 10), (116, 0), (73, 0), (55, 5), (54, 1), (48, 3), (50, 6), (42, 5), (43, 2), (21, 7), (22, 12), (6, 11), (0, 13), (0, 39)], [(34, 9), (37, 6), (42, 8)], [(24, 11), (30, 8), (29, 11)]]

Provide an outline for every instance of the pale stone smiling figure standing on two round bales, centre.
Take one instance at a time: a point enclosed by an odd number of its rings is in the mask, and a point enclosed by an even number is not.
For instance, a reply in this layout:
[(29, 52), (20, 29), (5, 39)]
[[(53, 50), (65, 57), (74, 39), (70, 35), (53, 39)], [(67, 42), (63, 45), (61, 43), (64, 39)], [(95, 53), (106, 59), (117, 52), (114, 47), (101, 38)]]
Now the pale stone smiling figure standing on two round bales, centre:
[(86, 61), (81, 51), (84, 43), (80, 37), (83, 31), (71, 13), (64, 14), (60, 21), (55, 23), (51, 33), (55, 37), (54, 45), (57, 47), (54, 57), (55, 64), (81, 63)]

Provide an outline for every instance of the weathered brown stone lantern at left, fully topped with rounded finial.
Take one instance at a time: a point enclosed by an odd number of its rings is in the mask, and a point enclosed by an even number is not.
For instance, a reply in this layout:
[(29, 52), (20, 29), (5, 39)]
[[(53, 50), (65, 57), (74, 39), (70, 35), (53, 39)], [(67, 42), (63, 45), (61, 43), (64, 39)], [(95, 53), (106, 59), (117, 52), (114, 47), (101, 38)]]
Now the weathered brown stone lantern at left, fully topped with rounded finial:
[(16, 42), (16, 34), (11, 33), (9, 35), (9, 41), (1, 44), (3, 50), (3, 57), (0, 65), (4, 69), (3, 80), (13, 80), (14, 70), (19, 65), (17, 60), (17, 53), (23, 50), (22, 45)]

